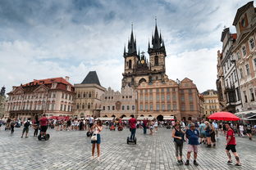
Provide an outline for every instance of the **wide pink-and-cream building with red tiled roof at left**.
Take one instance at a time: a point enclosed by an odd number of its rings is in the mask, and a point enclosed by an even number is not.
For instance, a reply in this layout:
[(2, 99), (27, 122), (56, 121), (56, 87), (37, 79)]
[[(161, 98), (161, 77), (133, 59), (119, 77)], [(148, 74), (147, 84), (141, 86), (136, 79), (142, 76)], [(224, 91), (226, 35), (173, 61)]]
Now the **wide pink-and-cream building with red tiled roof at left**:
[(6, 115), (25, 120), (36, 115), (72, 116), (75, 90), (69, 78), (47, 78), (14, 86), (7, 93)]

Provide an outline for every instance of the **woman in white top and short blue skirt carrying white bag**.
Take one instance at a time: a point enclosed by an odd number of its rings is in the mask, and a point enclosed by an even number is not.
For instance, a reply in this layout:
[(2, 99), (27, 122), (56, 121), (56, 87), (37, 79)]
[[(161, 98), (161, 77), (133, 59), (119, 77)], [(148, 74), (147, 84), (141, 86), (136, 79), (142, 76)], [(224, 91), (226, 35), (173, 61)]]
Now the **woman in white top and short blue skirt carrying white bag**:
[(97, 140), (96, 141), (91, 141), (92, 143), (92, 158), (94, 159), (94, 151), (95, 151), (95, 146), (97, 144), (97, 160), (99, 161), (99, 157), (100, 157), (100, 132), (103, 130), (103, 123), (101, 120), (98, 119), (97, 123), (94, 123), (94, 125), (91, 127), (92, 132), (94, 132), (94, 134), (97, 136)]

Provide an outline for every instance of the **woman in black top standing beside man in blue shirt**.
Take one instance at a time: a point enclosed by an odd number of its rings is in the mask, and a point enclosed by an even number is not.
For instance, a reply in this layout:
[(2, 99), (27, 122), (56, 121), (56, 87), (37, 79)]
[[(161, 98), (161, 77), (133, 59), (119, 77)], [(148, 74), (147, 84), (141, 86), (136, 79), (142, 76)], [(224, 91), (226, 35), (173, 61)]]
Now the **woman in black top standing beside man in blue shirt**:
[(179, 122), (176, 122), (172, 130), (172, 137), (174, 139), (177, 163), (180, 163), (180, 164), (183, 164), (182, 149), (183, 149), (183, 142), (184, 142), (184, 134), (185, 132), (181, 130), (181, 124)]

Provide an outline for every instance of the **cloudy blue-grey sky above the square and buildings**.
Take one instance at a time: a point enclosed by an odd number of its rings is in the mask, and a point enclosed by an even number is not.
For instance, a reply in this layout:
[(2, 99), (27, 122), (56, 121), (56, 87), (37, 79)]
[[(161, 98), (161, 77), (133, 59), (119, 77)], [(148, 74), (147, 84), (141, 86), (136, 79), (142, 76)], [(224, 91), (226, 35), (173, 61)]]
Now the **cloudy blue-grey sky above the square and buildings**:
[[(157, 18), (168, 78), (190, 78), (199, 92), (216, 89), (217, 50), (245, 0), (1, 0), (0, 87), (96, 70), (103, 87), (121, 89), (131, 24), (147, 51)], [(149, 58), (149, 55), (146, 53)]]

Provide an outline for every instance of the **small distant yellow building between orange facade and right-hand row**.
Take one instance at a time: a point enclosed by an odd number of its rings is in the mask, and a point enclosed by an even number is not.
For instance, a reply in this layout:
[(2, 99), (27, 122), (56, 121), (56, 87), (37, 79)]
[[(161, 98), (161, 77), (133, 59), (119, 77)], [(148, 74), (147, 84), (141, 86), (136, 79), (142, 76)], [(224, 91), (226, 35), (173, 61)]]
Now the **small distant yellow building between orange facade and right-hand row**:
[(220, 111), (217, 91), (215, 90), (208, 90), (201, 93), (203, 95), (203, 108), (204, 108), (204, 115), (208, 117), (210, 114)]

